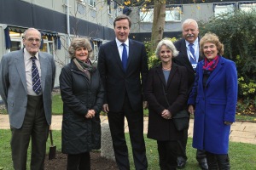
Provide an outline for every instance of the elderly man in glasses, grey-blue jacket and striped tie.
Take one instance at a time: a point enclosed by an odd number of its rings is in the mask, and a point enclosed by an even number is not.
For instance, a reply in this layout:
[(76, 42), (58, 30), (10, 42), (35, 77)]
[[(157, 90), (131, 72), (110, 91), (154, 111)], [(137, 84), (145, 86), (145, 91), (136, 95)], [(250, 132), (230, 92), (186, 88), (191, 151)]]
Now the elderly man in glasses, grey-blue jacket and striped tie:
[(39, 52), (40, 42), (41, 33), (34, 28), (27, 29), (23, 35), (25, 48), (3, 55), (0, 65), (0, 94), (9, 114), (15, 170), (26, 169), (30, 138), (30, 168), (44, 169), (55, 61), (51, 54)]

